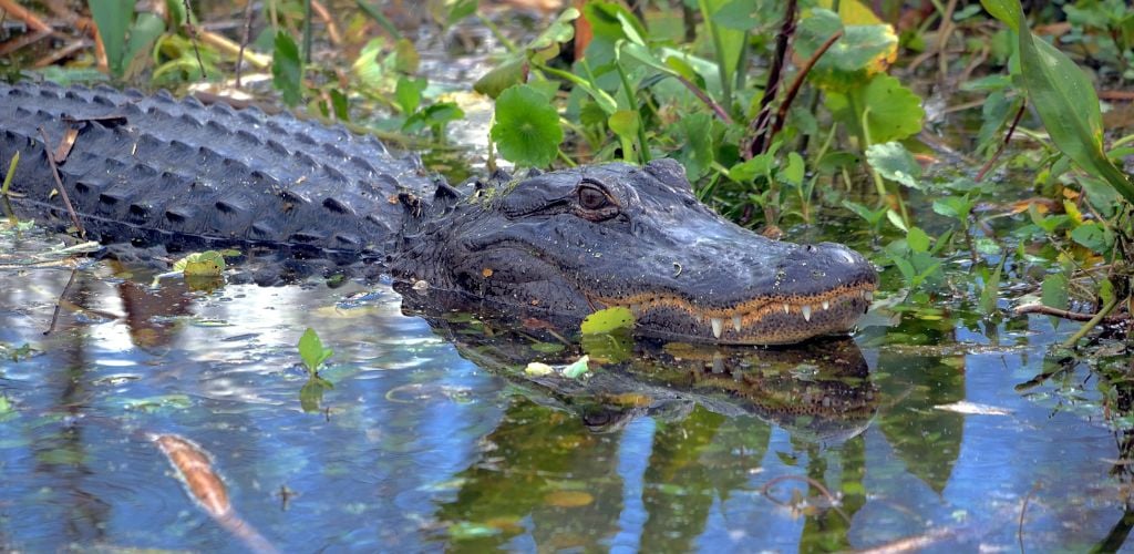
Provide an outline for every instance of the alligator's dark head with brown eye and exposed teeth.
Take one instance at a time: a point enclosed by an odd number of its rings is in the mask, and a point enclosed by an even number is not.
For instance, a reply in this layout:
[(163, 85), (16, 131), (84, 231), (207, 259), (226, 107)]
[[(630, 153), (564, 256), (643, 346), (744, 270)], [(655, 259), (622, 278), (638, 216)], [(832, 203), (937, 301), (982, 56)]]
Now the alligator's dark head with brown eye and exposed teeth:
[(399, 279), (579, 319), (627, 307), (637, 333), (699, 342), (845, 333), (878, 282), (846, 246), (727, 221), (672, 160), (494, 178), (434, 202), (398, 240), (389, 269)]

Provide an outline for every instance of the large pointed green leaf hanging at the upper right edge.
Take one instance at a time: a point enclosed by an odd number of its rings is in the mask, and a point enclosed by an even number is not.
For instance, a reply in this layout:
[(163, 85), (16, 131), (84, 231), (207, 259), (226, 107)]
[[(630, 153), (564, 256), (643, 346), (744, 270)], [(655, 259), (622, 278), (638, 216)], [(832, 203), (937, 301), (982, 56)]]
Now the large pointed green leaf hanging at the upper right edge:
[(1102, 115), (1094, 86), (1074, 61), (1032, 33), (1019, 33), (1021, 76), (1043, 127), (1068, 158), (1134, 203), (1134, 183), (1102, 150)]

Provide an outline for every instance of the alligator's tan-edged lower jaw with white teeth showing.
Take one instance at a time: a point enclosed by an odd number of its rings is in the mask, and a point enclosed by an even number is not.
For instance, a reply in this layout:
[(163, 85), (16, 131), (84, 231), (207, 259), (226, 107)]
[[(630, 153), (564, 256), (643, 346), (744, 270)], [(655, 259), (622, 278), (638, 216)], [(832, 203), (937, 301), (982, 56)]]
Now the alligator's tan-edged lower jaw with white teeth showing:
[(645, 334), (721, 344), (787, 344), (846, 333), (873, 300), (873, 283), (810, 295), (756, 296), (730, 308), (705, 308), (670, 294), (594, 297), (634, 312)]

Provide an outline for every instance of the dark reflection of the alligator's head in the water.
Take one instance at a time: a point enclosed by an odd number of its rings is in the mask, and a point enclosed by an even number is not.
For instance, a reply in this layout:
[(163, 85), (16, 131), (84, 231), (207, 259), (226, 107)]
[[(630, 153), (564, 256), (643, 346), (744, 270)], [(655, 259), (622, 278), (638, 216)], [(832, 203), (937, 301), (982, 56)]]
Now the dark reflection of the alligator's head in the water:
[[(640, 416), (683, 419), (695, 405), (726, 417), (755, 416), (812, 440), (844, 440), (865, 430), (877, 410), (862, 352), (849, 338), (799, 347), (753, 349), (662, 343), (628, 335), (564, 339), (574, 324), (518, 318), (475, 307), (465, 296), (407, 293), (403, 311), (425, 318), (460, 353), (557, 408), (577, 413), (596, 433), (620, 429)], [(540, 345), (561, 350), (545, 353)], [(543, 351), (543, 353), (541, 353)], [(566, 363), (589, 354), (601, 364), (586, 379), (525, 375), (530, 361)]]

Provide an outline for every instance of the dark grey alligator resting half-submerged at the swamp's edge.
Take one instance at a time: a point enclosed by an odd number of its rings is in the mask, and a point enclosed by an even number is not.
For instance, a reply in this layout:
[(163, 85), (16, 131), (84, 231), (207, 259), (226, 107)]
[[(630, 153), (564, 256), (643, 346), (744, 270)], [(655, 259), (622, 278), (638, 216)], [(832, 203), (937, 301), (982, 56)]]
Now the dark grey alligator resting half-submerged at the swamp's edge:
[(728, 344), (846, 334), (878, 283), (846, 246), (723, 219), (669, 159), (451, 186), (341, 126), (49, 83), (0, 84), (0, 167), (22, 153), (16, 209), (104, 243), (266, 247), (517, 312), (625, 307), (636, 333)]

